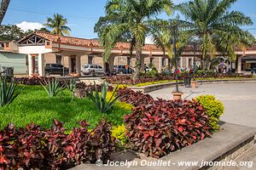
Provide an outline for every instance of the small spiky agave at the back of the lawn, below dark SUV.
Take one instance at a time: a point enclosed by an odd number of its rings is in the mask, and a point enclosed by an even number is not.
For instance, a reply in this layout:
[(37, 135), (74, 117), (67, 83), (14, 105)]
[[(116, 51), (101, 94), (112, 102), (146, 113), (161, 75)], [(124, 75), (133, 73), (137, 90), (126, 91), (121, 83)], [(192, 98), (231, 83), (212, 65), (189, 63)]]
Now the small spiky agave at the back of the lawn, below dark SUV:
[(59, 82), (56, 79), (49, 80), (49, 82), (45, 82), (45, 85), (41, 83), (47, 94), (50, 98), (55, 97), (57, 94), (59, 94), (64, 88), (63, 86), (60, 86)]

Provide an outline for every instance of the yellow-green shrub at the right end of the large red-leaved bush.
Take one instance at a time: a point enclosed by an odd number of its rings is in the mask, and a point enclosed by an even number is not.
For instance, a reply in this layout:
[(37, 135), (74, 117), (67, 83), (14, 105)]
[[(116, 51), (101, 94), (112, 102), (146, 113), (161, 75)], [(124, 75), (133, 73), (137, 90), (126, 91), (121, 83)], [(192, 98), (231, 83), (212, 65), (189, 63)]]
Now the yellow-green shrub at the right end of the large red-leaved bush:
[(224, 105), (212, 95), (201, 95), (196, 98), (196, 101), (207, 110), (207, 115), (210, 116), (210, 124), (212, 130), (218, 130), (219, 117), (224, 113)]

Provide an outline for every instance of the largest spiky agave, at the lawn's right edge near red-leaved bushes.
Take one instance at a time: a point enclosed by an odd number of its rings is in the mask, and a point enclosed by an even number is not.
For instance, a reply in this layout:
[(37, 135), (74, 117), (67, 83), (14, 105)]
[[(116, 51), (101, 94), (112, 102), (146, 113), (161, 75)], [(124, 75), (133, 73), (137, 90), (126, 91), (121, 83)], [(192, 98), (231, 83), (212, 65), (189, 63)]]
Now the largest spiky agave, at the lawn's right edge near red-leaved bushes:
[(106, 82), (102, 83), (102, 93), (100, 93), (97, 90), (96, 83), (94, 82), (95, 91), (91, 92), (89, 94), (89, 98), (93, 101), (93, 103), (96, 105), (98, 110), (101, 113), (107, 113), (108, 110), (113, 108), (113, 105), (118, 101), (120, 98), (120, 95), (117, 95), (118, 88), (114, 88), (113, 93), (110, 97), (110, 99), (107, 99), (107, 93), (108, 93), (108, 84)]

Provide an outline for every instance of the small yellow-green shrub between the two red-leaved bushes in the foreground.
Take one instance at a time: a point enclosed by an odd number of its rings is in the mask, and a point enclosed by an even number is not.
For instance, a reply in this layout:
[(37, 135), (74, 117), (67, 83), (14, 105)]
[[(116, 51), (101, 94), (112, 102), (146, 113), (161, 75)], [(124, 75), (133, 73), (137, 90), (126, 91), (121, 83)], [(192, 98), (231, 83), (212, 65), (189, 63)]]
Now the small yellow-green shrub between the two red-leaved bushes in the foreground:
[(112, 136), (115, 139), (118, 139), (122, 145), (125, 145), (128, 142), (128, 138), (125, 135), (126, 133), (125, 124), (122, 124), (118, 127), (113, 127), (111, 132), (112, 132)]

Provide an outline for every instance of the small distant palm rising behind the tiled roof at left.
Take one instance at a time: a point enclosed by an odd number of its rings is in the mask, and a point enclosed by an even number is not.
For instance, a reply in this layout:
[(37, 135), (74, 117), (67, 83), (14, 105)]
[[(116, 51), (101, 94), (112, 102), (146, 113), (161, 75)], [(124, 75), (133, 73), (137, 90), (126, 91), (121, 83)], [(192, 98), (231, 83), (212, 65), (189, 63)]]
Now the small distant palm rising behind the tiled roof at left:
[(52, 29), (50, 33), (57, 35), (58, 37), (69, 35), (71, 29), (67, 26), (67, 19), (61, 14), (54, 14), (53, 18), (47, 18), (47, 23), (44, 26)]

